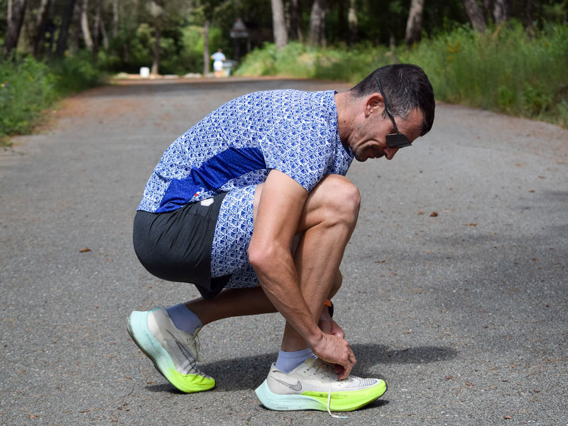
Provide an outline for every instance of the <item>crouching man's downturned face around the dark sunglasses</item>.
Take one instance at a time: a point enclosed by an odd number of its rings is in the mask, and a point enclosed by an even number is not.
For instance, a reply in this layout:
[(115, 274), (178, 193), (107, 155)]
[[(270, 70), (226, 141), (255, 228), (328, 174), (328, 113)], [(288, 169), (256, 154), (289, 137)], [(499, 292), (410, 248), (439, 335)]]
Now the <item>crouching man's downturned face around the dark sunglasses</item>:
[[(387, 146), (386, 135), (396, 133), (393, 121), (384, 118), (380, 109), (373, 114), (366, 114), (356, 125), (354, 133), (349, 140), (349, 147), (355, 159), (366, 161), (368, 158), (385, 157), (391, 160), (400, 148)], [(410, 112), (408, 119), (395, 117), (398, 131), (403, 133), (410, 142), (420, 136), (422, 126), (422, 113), (418, 109)], [(408, 148), (407, 148), (408, 149)]]

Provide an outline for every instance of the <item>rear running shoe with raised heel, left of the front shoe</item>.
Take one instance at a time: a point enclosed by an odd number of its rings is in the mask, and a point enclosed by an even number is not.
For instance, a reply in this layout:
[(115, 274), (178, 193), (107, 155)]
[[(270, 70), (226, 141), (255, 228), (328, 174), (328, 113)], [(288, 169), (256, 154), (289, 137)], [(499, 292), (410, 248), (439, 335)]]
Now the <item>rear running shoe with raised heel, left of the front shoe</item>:
[(163, 307), (149, 312), (134, 311), (128, 322), (130, 337), (150, 358), (155, 368), (176, 388), (185, 393), (208, 391), (215, 380), (197, 369), (197, 333), (175, 327)]

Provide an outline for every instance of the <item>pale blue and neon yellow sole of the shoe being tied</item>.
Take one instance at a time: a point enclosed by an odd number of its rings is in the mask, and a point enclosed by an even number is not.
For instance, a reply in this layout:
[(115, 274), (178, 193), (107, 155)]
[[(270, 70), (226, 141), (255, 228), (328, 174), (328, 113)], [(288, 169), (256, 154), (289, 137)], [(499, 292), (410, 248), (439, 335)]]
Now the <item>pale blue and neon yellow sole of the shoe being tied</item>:
[[(387, 386), (384, 381), (377, 383), (372, 388), (361, 391), (332, 392), (329, 401), (331, 411), (353, 411), (364, 407), (368, 403), (381, 398), (386, 392)], [(256, 396), (262, 405), (270, 410), (297, 411), (318, 410), (327, 411), (327, 392), (305, 392), (301, 395), (278, 395), (268, 388), (265, 380), (256, 388)]]

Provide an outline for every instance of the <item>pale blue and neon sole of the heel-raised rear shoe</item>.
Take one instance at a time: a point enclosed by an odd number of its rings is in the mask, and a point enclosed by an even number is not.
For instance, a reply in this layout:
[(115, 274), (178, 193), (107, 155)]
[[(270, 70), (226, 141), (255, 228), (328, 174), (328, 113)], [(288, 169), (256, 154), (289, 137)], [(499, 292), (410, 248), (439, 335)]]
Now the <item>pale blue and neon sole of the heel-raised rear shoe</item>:
[(184, 393), (209, 391), (215, 387), (215, 380), (199, 374), (182, 374), (162, 345), (148, 329), (148, 312), (134, 311), (128, 321), (128, 332), (136, 346), (152, 360), (154, 367), (170, 383)]

